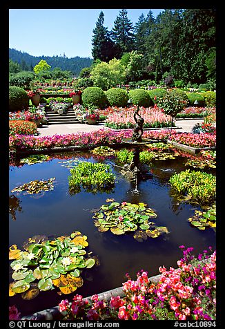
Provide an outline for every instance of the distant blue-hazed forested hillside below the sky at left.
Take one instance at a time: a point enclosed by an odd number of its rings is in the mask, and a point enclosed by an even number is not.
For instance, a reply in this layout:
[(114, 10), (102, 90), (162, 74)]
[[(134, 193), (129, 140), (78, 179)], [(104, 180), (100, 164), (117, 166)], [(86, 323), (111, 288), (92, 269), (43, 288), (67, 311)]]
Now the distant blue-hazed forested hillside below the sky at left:
[(43, 59), (51, 66), (51, 70), (57, 67), (63, 71), (71, 71), (75, 76), (79, 75), (82, 68), (89, 67), (93, 62), (90, 57), (32, 56), (13, 48), (9, 49), (9, 57), (13, 62), (19, 63), (24, 71), (32, 71), (34, 66)]

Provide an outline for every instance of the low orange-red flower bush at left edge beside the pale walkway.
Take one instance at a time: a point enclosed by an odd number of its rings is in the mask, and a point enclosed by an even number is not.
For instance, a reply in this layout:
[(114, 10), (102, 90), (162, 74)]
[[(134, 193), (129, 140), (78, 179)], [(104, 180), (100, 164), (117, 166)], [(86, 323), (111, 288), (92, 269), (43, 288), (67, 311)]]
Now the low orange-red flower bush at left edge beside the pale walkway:
[(37, 125), (26, 120), (10, 120), (10, 135), (37, 135)]

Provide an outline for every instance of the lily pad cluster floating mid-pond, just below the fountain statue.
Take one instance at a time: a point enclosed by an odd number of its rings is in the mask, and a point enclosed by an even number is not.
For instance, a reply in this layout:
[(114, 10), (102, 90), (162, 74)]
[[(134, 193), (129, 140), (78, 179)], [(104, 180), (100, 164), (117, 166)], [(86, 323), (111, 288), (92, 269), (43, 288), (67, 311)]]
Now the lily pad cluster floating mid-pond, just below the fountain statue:
[(117, 203), (101, 205), (98, 212), (92, 218), (99, 232), (106, 232), (110, 229), (113, 234), (121, 235), (134, 232), (137, 241), (146, 240), (148, 236), (157, 238), (162, 233), (168, 233), (166, 227), (156, 227), (150, 221), (156, 218), (157, 214), (153, 209), (147, 208), (145, 203)]

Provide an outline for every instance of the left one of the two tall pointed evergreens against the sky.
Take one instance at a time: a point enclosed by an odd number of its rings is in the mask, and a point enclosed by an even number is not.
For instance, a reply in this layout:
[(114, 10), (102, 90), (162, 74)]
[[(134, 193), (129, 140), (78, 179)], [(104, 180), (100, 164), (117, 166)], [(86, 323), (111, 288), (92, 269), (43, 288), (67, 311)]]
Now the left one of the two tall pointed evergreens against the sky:
[(100, 12), (92, 36), (92, 56), (94, 60), (100, 59), (108, 62), (115, 57), (115, 45), (110, 39), (108, 28), (104, 27), (104, 12)]

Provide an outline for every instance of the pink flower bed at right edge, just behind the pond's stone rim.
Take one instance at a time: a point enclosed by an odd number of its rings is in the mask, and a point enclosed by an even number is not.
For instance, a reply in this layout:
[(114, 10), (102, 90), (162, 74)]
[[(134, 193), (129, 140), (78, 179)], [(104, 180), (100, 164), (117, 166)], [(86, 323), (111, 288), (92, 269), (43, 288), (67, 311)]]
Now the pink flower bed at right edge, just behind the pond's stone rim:
[(170, 137), (170, 140), (190, 147), (215, 147), (216, 135), (211, 133), (177, 133)]

